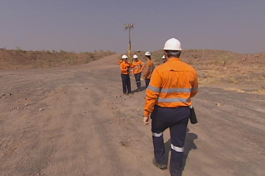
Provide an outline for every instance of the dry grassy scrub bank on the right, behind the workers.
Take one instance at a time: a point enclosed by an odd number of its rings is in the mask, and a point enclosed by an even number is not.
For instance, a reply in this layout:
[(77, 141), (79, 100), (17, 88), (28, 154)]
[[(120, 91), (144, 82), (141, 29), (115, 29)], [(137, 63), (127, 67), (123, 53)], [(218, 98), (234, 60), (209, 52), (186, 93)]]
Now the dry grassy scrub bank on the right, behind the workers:
[[(137, 54), (139, 59), (145, 61), (145, 51)], [(162, 63), (163, 50), (151, 52), (152, 59)], [(192, 65), (199, 76), (201, 84), (229, 83), (229, 84), (256, 84), (265, 82), (265, 52), (258, 54), (238, 54), (224, 50), (187, 49), (183, 50), (180, 59)], [(260, 88), (257, 92), (265, 91)]]

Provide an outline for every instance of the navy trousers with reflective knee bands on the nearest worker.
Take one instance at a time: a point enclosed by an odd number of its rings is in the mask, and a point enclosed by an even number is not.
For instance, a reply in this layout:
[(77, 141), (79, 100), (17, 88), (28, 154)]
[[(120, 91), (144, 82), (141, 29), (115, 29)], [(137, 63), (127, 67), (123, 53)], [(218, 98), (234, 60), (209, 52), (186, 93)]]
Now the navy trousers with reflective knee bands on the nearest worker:
[(157, 163), (166, 163), (163, 131), (169, 127), (171, 137), (170, 173), (182, 174), (184, 142), (190, 117), (189, 106), (167, 108), (155, 106), (151, 114), (154, 154)]

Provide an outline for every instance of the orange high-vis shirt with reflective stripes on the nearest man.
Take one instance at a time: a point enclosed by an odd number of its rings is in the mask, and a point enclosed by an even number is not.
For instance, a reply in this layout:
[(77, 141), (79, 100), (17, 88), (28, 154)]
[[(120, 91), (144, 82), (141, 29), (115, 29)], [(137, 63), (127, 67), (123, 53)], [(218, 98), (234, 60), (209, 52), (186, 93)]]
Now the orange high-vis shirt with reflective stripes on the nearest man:
[(194, 68), (179, 58), (171, 58), (152, 73), (146, 89), (144, 116), (149, 116), (154, 106), (180, 107), (192, 105), (191, 97), (198, 91), (198, 76)]

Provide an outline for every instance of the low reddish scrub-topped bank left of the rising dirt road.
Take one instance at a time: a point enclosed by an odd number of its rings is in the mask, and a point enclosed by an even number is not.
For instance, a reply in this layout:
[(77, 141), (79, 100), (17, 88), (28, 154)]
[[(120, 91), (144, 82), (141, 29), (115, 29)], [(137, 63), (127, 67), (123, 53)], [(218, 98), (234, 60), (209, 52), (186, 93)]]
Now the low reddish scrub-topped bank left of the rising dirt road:
[[(102, 52), (59, 52), (47, 51), (24, 51), (17, 47), (15, 50), (0, 49), (1, 70), (47, 68), (63, 65), (86, 64), (101, 57), (115, 54), (111, 51)], [(5, 59), (2, 59), (5, 58)], [(19, 66), (18, 66), (19, 65)]]

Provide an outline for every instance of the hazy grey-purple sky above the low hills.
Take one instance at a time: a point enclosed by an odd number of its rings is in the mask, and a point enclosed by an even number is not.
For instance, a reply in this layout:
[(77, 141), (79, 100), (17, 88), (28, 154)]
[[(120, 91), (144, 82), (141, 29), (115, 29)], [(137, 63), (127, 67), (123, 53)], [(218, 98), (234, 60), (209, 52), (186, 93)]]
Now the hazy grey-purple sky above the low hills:
[(265, 51), (265, 0), (0, 0), (0, 48)]

